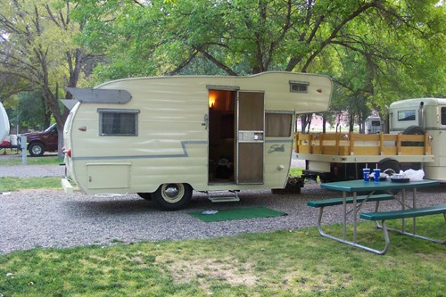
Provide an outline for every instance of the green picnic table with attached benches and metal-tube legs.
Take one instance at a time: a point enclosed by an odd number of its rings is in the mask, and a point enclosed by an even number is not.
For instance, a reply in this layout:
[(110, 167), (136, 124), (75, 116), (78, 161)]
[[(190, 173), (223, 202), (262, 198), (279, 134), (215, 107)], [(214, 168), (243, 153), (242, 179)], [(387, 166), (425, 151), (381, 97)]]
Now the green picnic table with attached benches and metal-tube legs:
[[(308, 202), (307, 205), (319, 208), (318, 230), (320, 235), (330, 239), (334, 239), (335, 241), (341, 243), (350, 244), (352, 246), (358, 247), (368, 252), (384, 254), (385, 252), (388, 251), (390, 246), (388, 230), (398, 231), (403, 235), (411, 235), (418, 238), (431, 240), (436, 243), (443, 243), (443, 244), (445, 243), (444, 241), (441, 240), (425, 237), (422, 235), (417, 235), (417, 217), (442, 213), (444, 218), (446, 219), (446, 203), (430, 207), (417, 208), (417, 188), (427, 187), (427, 186), (437, 186), (437, 185), (439, 185), (438, 181), (426, 180), (426, 179), (419, 181), (410, 181), (407, 183), (397, 183), (397, 182), (392, 182), (390, 180), (379, 181), (379, 182), (373, 182), (373, 181), (366, 182), (362, 179), (325, 183), (321, 184), (322, 188), (342, 192), (343, 197), (320, 200), (320, 201), (312, 201)], [(412, 192), (411, 206), (406, 204), (407, 190)], [(359, 195), (359, 193), (365, 193), (365, 194)], [(398, 193), (398, 195), (395, 193)], [(396, 199), (398, 202), (400, 202), (401, 210), (396, 210), (396, 211), (378, 210), (379, 202), (392, 199)], [(385, 240), (384, 250), (376, 250), (375, 248), (357, 243), (358, 214), (360, 207), (364, 202), (376, 202), (375, 212), (360, 213), (359, 217), (360, 219), (374, 220), (376, 221), (376, 227), (383, 229), (384, 240)], [(341, 204), (343, 205), (343, 237), (328, 235), (322, 230), (321, 222), (324, 208)], [(347, 211), (347, 204), (352, 204), (352, 210)], [(350, 212), (352, 212), (352, 219), (353, 219), (352, 240), (347, 239), (347, 217), (348, 214), (350, 214)], [(412, 232), (406, 232), (405, 230), (404, 219), (407, 218), (413, 218)], [(391, 229), (386, 227), (385, 220), (387, 219), (401, 219), (402, 220), (401, 230)], [(378, 221), (381, 221), (381, 223), (378, 223)]]

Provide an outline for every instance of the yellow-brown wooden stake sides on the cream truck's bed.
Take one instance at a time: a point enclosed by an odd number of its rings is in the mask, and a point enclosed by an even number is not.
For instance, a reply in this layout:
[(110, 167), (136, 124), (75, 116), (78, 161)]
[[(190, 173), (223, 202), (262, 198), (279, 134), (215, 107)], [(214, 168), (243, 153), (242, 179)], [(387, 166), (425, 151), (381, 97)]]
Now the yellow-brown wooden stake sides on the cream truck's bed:
[(359, 133), (296, 133), (295, 152), (330, 155), (430, 155), (429, 136)]

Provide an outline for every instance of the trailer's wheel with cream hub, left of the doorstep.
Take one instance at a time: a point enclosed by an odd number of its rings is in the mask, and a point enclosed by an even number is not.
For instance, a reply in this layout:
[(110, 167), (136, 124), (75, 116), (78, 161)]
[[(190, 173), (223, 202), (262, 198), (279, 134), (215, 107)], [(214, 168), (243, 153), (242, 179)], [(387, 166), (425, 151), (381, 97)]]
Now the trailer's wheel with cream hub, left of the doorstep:
[(163, 184), (152, 194), (155, 204), (162, 210), (180, 210), (192, 198), (192, 187), (187, 184)]

